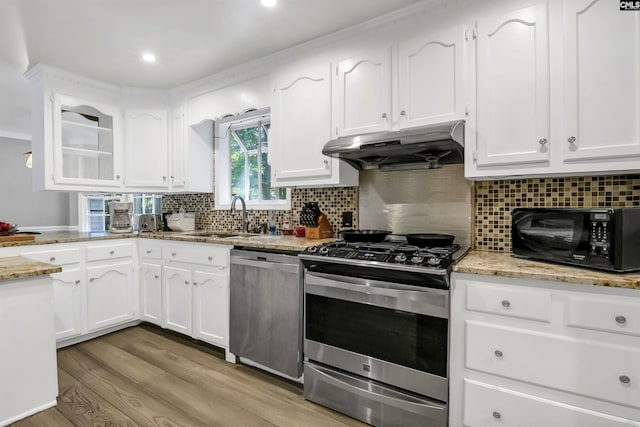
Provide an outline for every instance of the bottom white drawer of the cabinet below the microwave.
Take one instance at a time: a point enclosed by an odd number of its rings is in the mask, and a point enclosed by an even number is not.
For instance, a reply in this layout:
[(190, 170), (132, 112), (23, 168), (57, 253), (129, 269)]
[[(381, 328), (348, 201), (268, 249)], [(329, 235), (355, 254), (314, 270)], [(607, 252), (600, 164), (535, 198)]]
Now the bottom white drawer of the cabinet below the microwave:
[(464, 425), (473, 427), (621, 427), (622, 418), (541, 399), (525, 393), (464, 381)]

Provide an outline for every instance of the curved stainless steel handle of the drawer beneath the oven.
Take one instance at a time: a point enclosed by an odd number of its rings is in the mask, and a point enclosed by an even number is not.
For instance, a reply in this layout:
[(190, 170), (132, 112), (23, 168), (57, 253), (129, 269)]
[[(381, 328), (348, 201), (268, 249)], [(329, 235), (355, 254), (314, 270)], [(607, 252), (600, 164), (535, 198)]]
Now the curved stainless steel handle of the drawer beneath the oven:
[[(438, 413), (442, 413), (446, 411), (446, 406), (442, 404), (438, 404), (436, 402), (430, 402), (423, 399), (418, 399), (410, 396), (403, 396), (400, 393), (388, 391), (386, 394), (375, 393), (368, 388), (363, 388), (359, 383), (362, 383), (362, 380), (352, 379), (347, 375), (340, 374), (330, 369), (325, 369), (322, 366), (313, 365), (312, 367), (318, 375), (329, 380), (334, 386), (337, 386), (343, 390), (353, 392), (354, 389), (357, 390), (357, 393), (362, 396), (368, 396), (373, 400), (381, 403), (389, 404), (390, 406), (404, 409), (409, 412), (417, 412), (423, 413), (425, 411), (436, 411)], [(367, 384), (371, 387), (371, 384)], [(376, 385), (373, 385), (373, 388), (380, 388)], [(392, 395), (391, 395), (392, 394)]]

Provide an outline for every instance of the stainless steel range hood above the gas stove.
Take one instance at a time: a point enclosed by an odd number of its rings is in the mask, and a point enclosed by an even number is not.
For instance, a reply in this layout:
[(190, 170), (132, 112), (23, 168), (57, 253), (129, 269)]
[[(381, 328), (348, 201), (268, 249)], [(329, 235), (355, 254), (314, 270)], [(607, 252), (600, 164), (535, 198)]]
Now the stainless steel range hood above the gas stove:
[(345, 136), (327, 142), (322, 154), (356, 169), (437, 169), (464, 160), (464, 120)]

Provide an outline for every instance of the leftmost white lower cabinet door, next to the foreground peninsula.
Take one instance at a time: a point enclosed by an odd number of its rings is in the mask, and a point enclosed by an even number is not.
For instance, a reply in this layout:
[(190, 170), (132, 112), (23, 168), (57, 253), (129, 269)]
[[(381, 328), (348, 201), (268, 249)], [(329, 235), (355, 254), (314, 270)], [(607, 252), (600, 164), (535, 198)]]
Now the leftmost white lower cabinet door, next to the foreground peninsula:
[(53, 309), (55, 314), (56, 340), (74, 337), (82, 333), (82, 272), (80, 269), (65, 269), (52, 274)]

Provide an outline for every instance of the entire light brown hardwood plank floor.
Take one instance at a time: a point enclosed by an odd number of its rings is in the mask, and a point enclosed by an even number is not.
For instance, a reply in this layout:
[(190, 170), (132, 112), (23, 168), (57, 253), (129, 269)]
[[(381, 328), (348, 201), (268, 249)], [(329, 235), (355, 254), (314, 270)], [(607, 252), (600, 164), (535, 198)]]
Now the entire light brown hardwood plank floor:
[(138, 326), (58, 351), (58, 405), (16, 427), (364, 426), (299, 384)]

